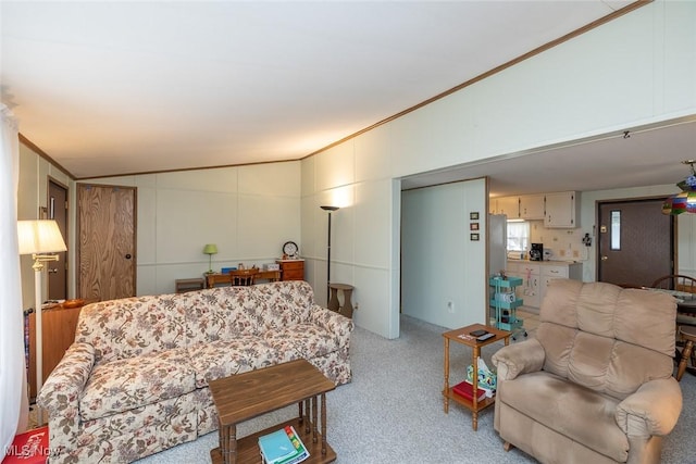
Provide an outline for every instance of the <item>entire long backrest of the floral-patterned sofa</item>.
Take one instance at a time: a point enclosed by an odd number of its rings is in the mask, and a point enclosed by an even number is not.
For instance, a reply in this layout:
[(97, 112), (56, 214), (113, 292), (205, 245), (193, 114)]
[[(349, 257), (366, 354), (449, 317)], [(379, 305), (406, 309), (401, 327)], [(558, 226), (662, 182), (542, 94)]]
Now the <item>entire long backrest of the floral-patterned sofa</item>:
[(296, 325), (313, 303), (302, 280), (102, 301), (83, 308), (75, 341), (100, 364)]

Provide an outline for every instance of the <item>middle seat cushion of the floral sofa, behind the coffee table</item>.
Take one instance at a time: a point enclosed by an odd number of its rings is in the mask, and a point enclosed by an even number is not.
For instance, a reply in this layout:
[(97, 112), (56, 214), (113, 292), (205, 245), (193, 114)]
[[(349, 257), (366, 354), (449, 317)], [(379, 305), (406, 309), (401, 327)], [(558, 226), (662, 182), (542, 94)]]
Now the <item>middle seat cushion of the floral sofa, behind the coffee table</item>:
[(209, 380), (278, 364), (283, 353), (274, 350), (263, 338), (243, 336), (233, 340), (217, 340), (188, 348), (196, 372), (196, 387), (208, 387)]

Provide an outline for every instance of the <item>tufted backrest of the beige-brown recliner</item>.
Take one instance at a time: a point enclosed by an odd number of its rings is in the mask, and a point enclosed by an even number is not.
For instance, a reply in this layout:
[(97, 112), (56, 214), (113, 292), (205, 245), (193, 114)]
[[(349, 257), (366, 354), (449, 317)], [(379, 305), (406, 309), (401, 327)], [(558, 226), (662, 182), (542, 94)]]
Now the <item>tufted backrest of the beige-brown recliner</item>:
[(672, 375), (676, 303), (666, 293), (555, 279), (536, 338), (544, 369), (619, 400)]

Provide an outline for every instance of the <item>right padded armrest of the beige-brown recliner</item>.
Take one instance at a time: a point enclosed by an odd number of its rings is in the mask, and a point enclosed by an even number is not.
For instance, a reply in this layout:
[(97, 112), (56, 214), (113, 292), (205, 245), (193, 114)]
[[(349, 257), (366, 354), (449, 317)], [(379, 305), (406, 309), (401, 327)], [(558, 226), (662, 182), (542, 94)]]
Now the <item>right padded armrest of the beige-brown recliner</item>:
[(650, 380), (619, 403), (614, 417), (630, 437), (661, 437), (676, 425), (682, 401), (682, 390), (673, 377)]

